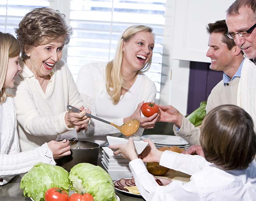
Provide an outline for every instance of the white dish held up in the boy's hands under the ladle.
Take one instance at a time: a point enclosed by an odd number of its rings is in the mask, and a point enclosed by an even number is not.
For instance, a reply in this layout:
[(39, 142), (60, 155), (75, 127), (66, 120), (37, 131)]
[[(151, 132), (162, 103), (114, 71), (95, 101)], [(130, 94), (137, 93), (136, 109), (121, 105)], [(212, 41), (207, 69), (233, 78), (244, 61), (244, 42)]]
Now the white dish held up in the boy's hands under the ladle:
[[(108, 144), (110, 145), (116, 145), (116, 144), (127, 144), (128, 139), (121, 138), (121, 137), (113, 137), (113, 136), (107, 136)], [(147, 142), (144, 141), (134, 141), (135, 149), (138, 154), (141, 154), (141, 152), (146, 148), (148, 145)]]

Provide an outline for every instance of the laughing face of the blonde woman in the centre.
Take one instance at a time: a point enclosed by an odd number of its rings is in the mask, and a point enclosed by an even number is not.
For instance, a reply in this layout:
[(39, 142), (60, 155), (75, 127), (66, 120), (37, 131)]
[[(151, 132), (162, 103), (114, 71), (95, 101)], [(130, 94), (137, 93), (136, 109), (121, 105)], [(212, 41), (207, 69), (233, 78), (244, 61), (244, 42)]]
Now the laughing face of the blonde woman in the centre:
[(154, 43), (154, 36), (148, 31), (140, 31), (131, 40), (124, 42), (123, 67), (129, 67), (132, 72), (143, 69), (152, 57)]

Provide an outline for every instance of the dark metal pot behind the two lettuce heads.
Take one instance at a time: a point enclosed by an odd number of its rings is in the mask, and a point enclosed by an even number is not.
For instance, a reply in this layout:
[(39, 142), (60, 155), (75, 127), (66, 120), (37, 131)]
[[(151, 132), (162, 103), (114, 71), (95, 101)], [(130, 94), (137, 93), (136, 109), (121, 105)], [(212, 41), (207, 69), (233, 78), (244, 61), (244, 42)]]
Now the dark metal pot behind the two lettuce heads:
[(74, 144), (70, 144), (70, 146), (71, 154), (56, 159), (56, 165), (63, 167), (68, 172), (70, 172), (70, 169), (78, 163), (98, 165), (99, 144), (77, 140)]

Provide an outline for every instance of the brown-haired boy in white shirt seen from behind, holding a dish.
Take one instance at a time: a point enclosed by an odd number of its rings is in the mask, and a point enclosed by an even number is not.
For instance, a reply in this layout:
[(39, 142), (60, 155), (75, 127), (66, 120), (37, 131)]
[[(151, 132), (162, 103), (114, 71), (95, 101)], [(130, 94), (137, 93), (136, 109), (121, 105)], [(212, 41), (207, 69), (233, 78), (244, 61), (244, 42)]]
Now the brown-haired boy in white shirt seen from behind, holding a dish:
[[(147, 201), (249, 201), (256, 200), (256, 135), (253, 120), (235, 105), (211, 110), (201, 127), (202, 156), (159, 151), (149, 143), (138, 157), (132, 138), (128, 144), (110, 146), (130, 161), (129, 167), (139, 192)], [(141, 159), (140, 159), (141, 158)], [(173, 181), (158, 186), (143, 162), (160, 165), (192, 175), (190, 182)]]

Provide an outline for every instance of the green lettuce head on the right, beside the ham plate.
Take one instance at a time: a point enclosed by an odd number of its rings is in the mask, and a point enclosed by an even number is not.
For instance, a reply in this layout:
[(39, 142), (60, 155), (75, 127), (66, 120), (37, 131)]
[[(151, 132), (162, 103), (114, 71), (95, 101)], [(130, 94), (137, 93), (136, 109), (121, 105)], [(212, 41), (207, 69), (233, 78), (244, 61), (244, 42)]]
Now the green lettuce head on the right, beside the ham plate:
[(113, 181), (99, 166), (79, 163), (71, 168), (69, 179), (78, 193), (90, 193), (95, 201), (116, 201)]

